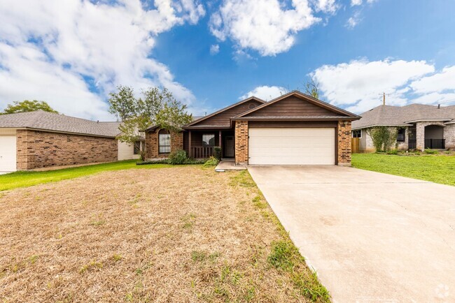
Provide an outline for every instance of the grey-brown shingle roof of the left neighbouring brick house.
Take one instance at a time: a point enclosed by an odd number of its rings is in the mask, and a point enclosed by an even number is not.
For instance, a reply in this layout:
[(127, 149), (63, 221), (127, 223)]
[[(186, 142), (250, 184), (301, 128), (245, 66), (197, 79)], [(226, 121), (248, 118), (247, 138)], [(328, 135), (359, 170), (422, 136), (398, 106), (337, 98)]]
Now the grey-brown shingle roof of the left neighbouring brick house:
[(120, 122), (97, 122), (52, 112), (18, 112), (0, 114), (0, 128), (35, 128), (63, 133), (80, 133), (103, 137), (116, 137)]

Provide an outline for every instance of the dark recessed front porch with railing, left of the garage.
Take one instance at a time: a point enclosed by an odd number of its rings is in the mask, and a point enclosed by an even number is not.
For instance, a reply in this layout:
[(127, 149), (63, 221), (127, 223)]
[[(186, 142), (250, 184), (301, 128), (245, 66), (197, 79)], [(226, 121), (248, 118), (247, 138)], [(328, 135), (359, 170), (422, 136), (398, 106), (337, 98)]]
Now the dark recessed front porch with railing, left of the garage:
[(188, 147), (190, 158), (209, 158), (214, 156), (215, 147), (221, 148), (222, 158), (235, 157), (234, 130), (229, 129), (204, 129), (188, 130)]

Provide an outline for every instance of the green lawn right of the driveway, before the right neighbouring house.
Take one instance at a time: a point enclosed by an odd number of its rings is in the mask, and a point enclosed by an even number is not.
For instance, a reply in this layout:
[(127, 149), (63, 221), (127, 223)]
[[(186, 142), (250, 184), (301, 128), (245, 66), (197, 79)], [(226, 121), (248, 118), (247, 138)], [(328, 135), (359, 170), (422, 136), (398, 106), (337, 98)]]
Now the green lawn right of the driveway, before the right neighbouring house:
[(455, 186), (455, 156), (353, 154), (352, 166)]

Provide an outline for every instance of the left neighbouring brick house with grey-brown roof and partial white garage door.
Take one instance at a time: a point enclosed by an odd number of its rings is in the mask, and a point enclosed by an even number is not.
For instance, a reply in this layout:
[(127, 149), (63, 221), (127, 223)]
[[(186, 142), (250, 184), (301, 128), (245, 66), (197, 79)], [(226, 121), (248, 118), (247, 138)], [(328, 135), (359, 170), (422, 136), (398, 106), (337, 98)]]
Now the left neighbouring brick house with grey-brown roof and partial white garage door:
[(0, 115), (0, 172), (139, 158), (144, 140), (120, 142), (120, 122), (51, 112)]

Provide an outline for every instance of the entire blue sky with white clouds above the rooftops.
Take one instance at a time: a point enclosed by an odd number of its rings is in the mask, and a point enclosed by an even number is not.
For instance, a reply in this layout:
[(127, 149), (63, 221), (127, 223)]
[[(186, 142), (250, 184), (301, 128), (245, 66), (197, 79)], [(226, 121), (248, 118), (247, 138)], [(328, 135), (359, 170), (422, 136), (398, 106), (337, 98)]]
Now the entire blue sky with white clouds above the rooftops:
[(382, 91), (391, 105), (451, 105), (454, 12), (453, 0), (0, 0), (0, 109), (38, 99), (113, 119), (106, 98), (124, 84), (168, 87), (203, 114), (309, 75), (356, 113)]

